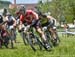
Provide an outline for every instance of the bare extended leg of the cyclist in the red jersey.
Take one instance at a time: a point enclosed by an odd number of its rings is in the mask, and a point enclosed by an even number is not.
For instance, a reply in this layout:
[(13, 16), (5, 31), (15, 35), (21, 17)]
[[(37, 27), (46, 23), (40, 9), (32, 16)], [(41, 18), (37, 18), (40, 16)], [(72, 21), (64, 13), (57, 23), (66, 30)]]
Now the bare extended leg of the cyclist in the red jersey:
[(36, 22), (36, 24), (34, 25), (34, 27), (36, 28), (36, 31), (40, 34), (40, 36), (41, 36), (41, 38), (43, 40), (43, 43), (44, 43), (44, 47), (45, 48), (50, 48), (50, 45), (49, 45), (49, 43), (47, 41), (45, 33), (41, 29), (40, 21)]

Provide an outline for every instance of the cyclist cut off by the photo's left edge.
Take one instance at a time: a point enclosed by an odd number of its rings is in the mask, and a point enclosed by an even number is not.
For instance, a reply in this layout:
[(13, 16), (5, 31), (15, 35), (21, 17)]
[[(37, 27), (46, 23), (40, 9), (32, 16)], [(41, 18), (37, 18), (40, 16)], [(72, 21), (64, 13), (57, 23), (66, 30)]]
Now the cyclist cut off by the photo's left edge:
[(3, 16), (0, 15), (0, 48), (2, 48), (2, 44), (5, 45), (6, 48), (8, 48), (8, 38), (7, 37), (7, 31), (4, 27), (4, 21)]

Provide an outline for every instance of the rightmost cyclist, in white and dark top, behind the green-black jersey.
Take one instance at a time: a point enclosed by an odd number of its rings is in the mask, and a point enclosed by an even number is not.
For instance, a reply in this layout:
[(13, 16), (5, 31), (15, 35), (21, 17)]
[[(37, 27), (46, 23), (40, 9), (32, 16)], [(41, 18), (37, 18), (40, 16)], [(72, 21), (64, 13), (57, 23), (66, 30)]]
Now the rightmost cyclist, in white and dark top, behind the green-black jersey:
[(48, 30), (50, 31), (51, 37), (53, 38), (52, 41), (54, 43), (54, 45), (57, 43), (58, 40), (58, 35), (56, 32), (56, 19), (53, 18), (52, 16), (50, 16), (50, 13), (47, 13), (45, 15), (42, 15), (43, 17), (47, 18), (47, 26), (48, 26)]

